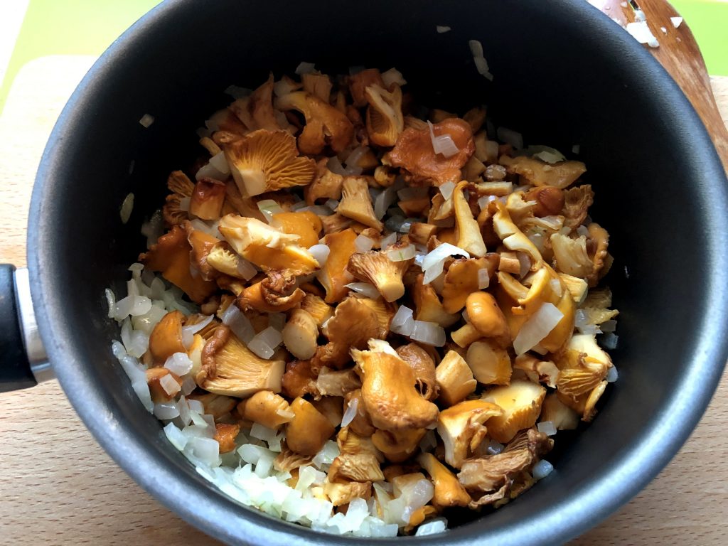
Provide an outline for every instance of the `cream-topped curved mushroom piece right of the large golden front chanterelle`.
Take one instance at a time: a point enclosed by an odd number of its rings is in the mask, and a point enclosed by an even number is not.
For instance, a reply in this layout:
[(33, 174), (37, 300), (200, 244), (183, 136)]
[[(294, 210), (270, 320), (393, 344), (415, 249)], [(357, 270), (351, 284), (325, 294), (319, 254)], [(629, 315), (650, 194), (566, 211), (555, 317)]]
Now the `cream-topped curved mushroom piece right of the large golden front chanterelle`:
[(508, 387), (494, 387), (486, 391), (482, 400), (503, 410), (502, 415), (488, 422), (488, 435), (500, 443), (507, 443), (519, 430), (533, 427), (545, 396), (546, 389), (531, 381), (511, 381)]

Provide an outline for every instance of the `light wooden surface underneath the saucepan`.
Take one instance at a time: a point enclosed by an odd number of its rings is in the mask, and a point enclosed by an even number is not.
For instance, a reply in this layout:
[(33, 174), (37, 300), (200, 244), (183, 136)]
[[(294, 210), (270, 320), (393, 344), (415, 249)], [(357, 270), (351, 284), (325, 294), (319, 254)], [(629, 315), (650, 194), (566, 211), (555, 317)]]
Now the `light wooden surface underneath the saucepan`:
[[(0, 117), (1, 262), (25, 264), (36, 165), (60, 108), (90, 62), (38, 60), (16, 80)], [(728, 119), (728, 78), (711, 83)], [(703, 421), (673, 462), (619, 513), (574, 544), (726, 544), (727, 418), (724, 376)], [(130, 543), (217, 544), (160, 506), (109, 459), (55, 381), (0, 394), (0, 544)]]

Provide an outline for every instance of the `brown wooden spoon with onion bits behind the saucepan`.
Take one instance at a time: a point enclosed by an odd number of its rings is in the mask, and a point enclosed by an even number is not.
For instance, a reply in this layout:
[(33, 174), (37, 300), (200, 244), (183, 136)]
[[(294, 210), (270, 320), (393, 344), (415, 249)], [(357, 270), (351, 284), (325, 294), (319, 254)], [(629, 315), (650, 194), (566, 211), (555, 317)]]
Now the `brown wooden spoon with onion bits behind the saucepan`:
[[(620, 0), (589, 0), (622, 26), (635, 20), (635, 11), (629, 2)], [(686, 23), (675, 28), (670, 17), (678, 12), (665, 0), (637, 0), (647, 18), (647, 25), (660, 42), (660, 47), (647, 47), (666, 71), (681, 87), (692, 103), (713, 139), (723, 167), (728, 173), (728, 129), (721, 118), (711, 90), (711, 79), (705, 60), (700, 54), (695, 36)], [(665, 31), (662, 31), (662, 28)]]

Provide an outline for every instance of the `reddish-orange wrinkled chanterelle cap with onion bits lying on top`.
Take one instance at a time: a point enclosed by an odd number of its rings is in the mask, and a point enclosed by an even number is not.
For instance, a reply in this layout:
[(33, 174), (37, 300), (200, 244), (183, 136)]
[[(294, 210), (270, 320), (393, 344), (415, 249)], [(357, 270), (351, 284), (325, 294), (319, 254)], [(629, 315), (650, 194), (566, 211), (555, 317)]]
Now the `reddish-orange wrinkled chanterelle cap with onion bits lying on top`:
[(446, 182), (458, 182), (460, 169), (475, 151), (470, 125), (462, 119), (444, 119), (432, 125), (437, 137), (450, 135), (458, 151), (451, 157), (435, 154), (429, 127), (408, 128), (400, 133), (395, 147), (384, 156), (393, 167), (403, 167), (410, 173), (413, 181), (433, 183), (435, 186)]

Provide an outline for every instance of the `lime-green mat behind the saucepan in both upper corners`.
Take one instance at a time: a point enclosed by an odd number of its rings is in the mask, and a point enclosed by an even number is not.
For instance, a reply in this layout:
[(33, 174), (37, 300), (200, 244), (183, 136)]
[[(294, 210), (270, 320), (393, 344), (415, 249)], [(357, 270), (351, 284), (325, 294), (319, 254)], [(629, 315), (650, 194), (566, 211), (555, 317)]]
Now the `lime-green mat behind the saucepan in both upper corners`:
[[(46, 55), (100, 55), (157, 4), (159, 0), (30, 0), (0, 86), (0, 113), (12, 80), (25, 63)], [(728, 2), (674, 0), (673, 4), (695, 33), (708, 72), (728, 76)]]

